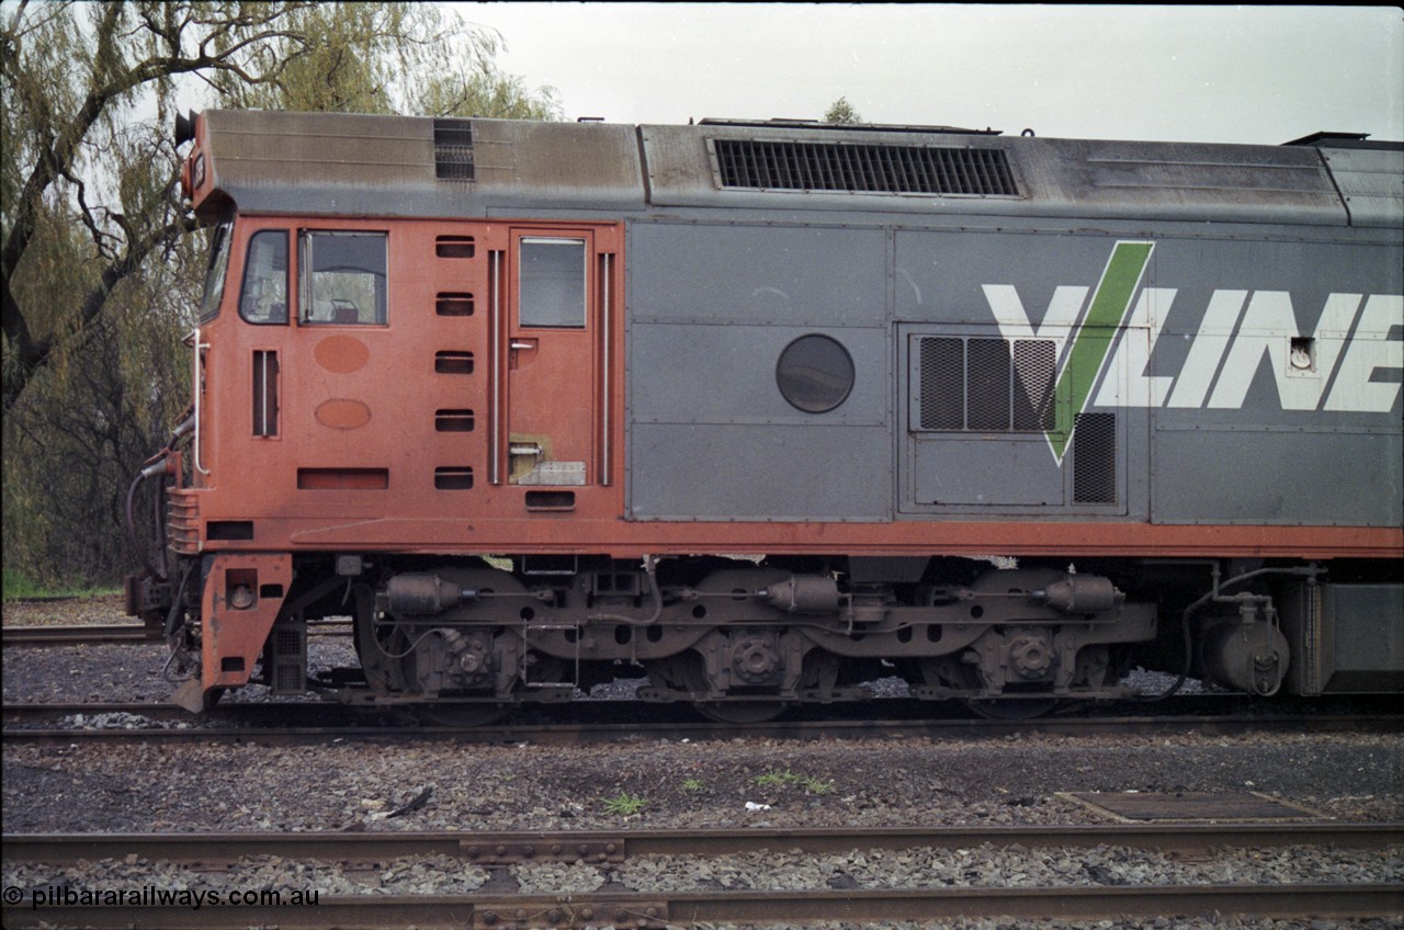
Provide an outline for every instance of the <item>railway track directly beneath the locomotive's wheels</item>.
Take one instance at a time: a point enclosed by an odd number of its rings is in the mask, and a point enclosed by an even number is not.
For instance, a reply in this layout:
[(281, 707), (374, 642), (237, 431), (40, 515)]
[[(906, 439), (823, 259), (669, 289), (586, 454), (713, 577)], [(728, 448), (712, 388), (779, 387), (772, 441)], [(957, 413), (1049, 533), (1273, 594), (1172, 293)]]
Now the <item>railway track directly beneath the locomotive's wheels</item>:
[[(908, 702), (893, 701), (892, 709)], [(640, 719), (646, 708), (649, 716)], [(361, 714), (333, 704), (229, 704), (206, 718), (191, 716), (163, 704), (21, 704), (6, 705), (4, 745), (124, 743), (133, 740), (258, 742), (261, 745), (314, 745), (354, 739), (452, 739), (461, 743), (600, 745), (636, 739), (855, 739), (882, 735), (890, 739), (958, 739), (1043, 733), (1095, 735), (1238, 735), (1255, 732), (1401, 732), (1401, 714), (1344, 715), (1174, 715), (1174, 716), (1067, 716), (1032, 721), (986, 718), (924, 718), (875, 715), (861, 719), (781, 719), (762, 723), (696, 721), (677, 708), (640, 705), (635, 701), (597, 701), (549, 722), (507, 722), (487, 726), (442, 726), (410, 721), (407, 712)]]

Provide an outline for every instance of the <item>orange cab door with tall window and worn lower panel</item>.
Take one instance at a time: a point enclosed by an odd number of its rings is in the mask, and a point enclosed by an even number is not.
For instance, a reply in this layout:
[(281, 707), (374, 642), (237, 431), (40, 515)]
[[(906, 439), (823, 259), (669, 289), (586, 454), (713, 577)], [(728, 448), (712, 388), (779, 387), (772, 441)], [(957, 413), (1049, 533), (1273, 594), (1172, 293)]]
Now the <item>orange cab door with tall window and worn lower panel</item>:
[[(507, 485), (611, 485), (614, 230), (514, 228), (498, 332)], [(574, 495), (529, 495), (574, 502)]]

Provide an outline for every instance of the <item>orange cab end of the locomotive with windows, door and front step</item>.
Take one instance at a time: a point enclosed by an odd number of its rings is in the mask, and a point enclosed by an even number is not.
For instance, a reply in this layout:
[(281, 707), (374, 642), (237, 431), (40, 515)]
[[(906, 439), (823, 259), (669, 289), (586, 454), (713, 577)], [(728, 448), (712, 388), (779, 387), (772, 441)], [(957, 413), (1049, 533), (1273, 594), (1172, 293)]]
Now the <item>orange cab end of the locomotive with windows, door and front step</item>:
[[(199, 577), (171, 593), (199, 618), (192, 709), (250, 680), (279, 614), (348, 587), (358, 551), (566, 548), (550, 524), (618, 518), (622, 483), (618, 223), (246, 209), (194, 125), (185, 188), (215, 228), (190, 482), (168, 492)], [(320, 583), (296, 584), (296, 552)]]

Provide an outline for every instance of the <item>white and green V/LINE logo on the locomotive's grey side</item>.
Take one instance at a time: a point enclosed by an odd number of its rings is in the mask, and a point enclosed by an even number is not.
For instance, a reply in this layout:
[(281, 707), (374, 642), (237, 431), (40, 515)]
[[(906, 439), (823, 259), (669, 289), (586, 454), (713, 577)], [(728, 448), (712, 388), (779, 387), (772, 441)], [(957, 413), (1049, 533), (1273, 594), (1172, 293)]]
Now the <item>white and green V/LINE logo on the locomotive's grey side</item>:
[[(1042, 339), (1057, 347), (1056, 421), (1045, 435), (1059, 462), (1094, 391), (1101, 407), (1241, 409), (1264, 354), (1283, 410), (1394, 407), (1404, 386), (1404, 341), (1390, 339), (1404, 327), (1398, 294), (1331, 294), (1306, 337), (1290, 292), (1217, 289), (1179, 374), (1147, 375), (1177, 295), (1175, 288), (1140, 287), (1154, 250), (1154, 242), (1118, 242), (1091, 299), (1085, 287), (1059, 287), (1036, 327), (1014, 285), (984, 285), (1007, 340)], [(1355, 336), (1346, 339), (1352, 326)]]

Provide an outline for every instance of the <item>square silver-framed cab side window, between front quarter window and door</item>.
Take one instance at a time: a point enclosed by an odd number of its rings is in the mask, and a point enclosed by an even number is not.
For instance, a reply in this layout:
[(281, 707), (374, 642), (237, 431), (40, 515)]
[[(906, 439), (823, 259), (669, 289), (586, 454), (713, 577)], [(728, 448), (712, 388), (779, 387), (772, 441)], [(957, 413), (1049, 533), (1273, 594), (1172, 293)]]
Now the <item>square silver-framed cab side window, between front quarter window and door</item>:
[(303, 232), (299, 322), (383, 326), (388, 239), (383, 232)]

